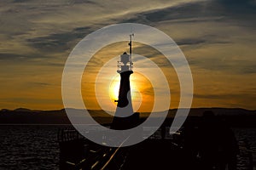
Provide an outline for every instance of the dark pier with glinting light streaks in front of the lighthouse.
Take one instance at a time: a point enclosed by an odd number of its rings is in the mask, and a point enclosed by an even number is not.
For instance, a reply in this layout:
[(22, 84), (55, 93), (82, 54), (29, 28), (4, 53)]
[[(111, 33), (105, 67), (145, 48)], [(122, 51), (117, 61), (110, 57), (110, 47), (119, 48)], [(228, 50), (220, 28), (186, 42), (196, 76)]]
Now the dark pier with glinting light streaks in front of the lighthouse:
[[(128, 169), (201, 169), (200, 161), (191, 160), (179, 139), (180, 133), (162, 136), (159, 129), (149, 139), (128, 147), (108, 147), (84, 139), (74, 129), (58, 134), (61, 170)], [(255, 170), (255, 150), (239, 142), (238, 170)]]

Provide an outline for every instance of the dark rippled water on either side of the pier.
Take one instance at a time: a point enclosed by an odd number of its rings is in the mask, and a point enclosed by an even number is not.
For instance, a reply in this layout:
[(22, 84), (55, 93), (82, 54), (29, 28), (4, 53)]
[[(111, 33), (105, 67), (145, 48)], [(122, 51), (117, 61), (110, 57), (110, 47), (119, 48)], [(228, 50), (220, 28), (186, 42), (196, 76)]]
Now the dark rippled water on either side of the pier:
[[(0, 169), (58, 169), (57, 133), (64, 125), (0, 125)], [(256, 128), (234, 128), (256, 147)]]

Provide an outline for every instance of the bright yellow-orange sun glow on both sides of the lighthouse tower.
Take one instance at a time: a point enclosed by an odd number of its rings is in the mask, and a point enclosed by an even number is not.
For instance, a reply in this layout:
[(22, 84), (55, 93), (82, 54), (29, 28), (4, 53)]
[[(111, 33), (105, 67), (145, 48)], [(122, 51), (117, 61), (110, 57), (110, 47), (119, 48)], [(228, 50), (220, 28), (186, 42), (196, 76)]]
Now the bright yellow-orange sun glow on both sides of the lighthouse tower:
[[(119, 99), (120, 75), (116, 72), (115, 65), (115, 61), (118, 59), (119, 56), (109, 60), (102, 66), (100, 71), (97, 71), (98, 74), (96, 76), (93, 75), (93, 71), (87, 71), (83, 75), (81, 90), (84, 105), (89, 107), (95, 105), (96, 109), (102, 109), (112, 116), (114, 116), (117, 107), (115, 100)], [(154, 88), (148, 77), (134, 71), (130, 76), (130, 86), (133, 111), (152, 111), (154, 106)], [(91, 91), (95, 92), (95, 95), (88, 95)]]

